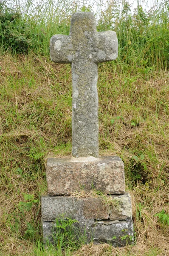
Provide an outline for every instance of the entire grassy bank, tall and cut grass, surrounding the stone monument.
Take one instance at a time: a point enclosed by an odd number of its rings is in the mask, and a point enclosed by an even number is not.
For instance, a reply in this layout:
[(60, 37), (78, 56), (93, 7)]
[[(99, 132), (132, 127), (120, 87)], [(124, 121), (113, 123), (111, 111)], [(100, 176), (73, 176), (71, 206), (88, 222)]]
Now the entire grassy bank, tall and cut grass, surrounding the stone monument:
[[(97, 30), (115, 30), (119, 42), (118, 58), (99, 64), (99, 149), (124, 161), (135, 244), (54, 249), (42, 243), (40, 195), (46, 157), (71, 154), (72, 86), (70, 65), (50, 61), (49, 39), (94, 4)], [(104, 6), (0, 0), (2, 256), (169, 256), (169, 3), (132, 14), (125, 1)]]

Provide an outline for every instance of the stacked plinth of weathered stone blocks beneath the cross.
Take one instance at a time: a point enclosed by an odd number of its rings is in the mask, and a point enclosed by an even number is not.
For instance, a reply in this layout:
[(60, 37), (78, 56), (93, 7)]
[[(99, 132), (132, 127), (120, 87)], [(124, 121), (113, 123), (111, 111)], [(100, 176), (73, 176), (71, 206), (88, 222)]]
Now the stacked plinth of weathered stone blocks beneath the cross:
[[(88, 242), (113, 246), (132, 243), (131, 198), (129, 193), (125, 193), (124, 164), (119, 157), (99, 157), (95, 161), (84, 162), (74, 162), (71, 158), (48, 158), (46, 176), (48, 195), (42, 196), (41, 200), (45, 242), (53, 241), (55, 219), (64, 214), (65, 218), (78, 221), (79, 229), (87, 235)], [(93, 189), (101, 192), (102, 196), (72, 196), (73, 192), (80, 195), (82, 190), (89, 193)]]

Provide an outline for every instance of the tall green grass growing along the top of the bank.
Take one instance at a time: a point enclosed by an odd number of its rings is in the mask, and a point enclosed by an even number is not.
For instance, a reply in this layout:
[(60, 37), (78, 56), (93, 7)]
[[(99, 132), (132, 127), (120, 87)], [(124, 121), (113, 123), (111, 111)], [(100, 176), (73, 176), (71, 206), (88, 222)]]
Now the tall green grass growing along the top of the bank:
[[(16, 2), (17, 3), (17, 2)], [(12, 13), (5, 23), (8, 27), (10, 37), (1, 32), (0, 41), (2, 50), (8, 47), (12, 52), (21, 51), (17, 41), (28, 40), (24, 51), (32, 49), (38, 54), (49, 56), (49, 40), (54, 34), (69, 34), (70, 17), (77, 10), (90, 11), (90, 6), (84, 6), (84, 2), (64, 1), (34, 1), (20, 2), (13, 9), (1, 7), (1, 20)], [(101, 9), (101, 2), (95, 3), (94, 12)], [(142, 6), (138, 6), (134, 13), (130, 12), (130, 5), (123, 1), (121, 6), (119, 0), (107, 1), (107, 9), (96, 12), (98, 17), (98, 31), (115, 30), (119, 41), (118, 62), (130, 65), (132, 70), (137, 67), (146, 73), (146, 68), (168, 68), (169, 63), (169, 6), (164, 1), (154, 6), (149, 12), (144, 12)], [(3, 22), (1, 22), (3, 30)], [(19, 33), (18, 33), (19, 32)], [(15, 42), (10, 40), (15, 37)], [(23, 37), (23, 38), (22, 38)], [(10, 39), (11, 38), (11, 39)], [(22, 43), (20, 43), (20, 46)]]

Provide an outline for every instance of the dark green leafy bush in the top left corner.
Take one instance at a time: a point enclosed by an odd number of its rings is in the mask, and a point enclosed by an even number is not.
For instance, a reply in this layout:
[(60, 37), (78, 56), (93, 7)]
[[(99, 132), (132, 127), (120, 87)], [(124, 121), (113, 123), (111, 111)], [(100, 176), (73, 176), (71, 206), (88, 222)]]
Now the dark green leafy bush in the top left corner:
[(14, 53), (28, 53), (36, 39), (42, 43), (41, 33), (31, 33), (31, 24), (26, 22), (19, 6), (8, 7), (8, 2), (0, 2), (0, 44), (4, 50)]

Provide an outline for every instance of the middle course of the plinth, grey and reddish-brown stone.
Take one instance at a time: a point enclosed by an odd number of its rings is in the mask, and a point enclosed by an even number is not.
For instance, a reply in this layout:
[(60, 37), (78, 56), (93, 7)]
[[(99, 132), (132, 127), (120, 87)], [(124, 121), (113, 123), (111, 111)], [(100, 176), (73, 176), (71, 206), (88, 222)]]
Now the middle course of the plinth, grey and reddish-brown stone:
[(104, 197), (76, 198), (61, 196), (42, 196), (42, 219), (54, 221), (59, 214), (71, 216), (78, 220), (126, 220), (132, 218), (131, 198), (129, 193), (124, 195), (107, 196), (113, 205), (107, 204)]

